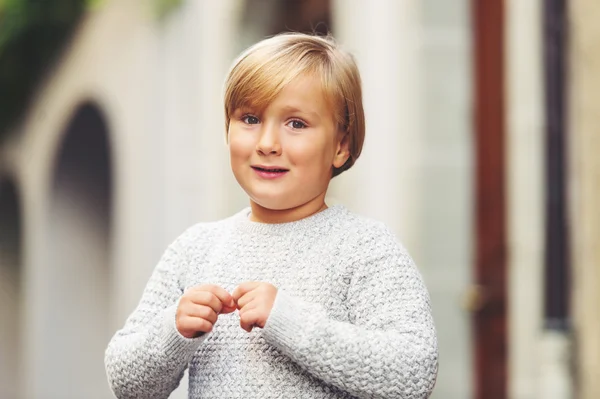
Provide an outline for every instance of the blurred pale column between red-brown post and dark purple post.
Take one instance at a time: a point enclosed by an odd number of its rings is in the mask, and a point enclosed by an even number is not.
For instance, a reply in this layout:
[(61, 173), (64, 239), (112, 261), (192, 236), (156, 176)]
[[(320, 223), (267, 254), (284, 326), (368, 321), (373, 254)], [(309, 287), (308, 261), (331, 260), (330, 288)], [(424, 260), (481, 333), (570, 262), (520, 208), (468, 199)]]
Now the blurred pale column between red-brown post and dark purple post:
[(506, 26), (509, 392), (540, 394), (544, 297), (542, 4), (509, 0)]

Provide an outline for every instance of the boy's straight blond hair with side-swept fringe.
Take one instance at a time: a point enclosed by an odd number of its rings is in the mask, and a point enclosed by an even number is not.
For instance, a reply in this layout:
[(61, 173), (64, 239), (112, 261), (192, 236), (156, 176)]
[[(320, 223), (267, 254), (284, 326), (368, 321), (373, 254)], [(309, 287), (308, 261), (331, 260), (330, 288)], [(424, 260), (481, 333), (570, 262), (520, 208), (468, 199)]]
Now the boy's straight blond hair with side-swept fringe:
[(354, 58), (331, 36), (284, 33), (258, 42), (233, 63), (225, 81), (225, 132), (236, 109), (264, 110), (281, 90), (302, 74), (322, 81), (341, 134), (348, 140), (350, 157), (333, 177), (358, 159), (365, 139), (362, 89)]

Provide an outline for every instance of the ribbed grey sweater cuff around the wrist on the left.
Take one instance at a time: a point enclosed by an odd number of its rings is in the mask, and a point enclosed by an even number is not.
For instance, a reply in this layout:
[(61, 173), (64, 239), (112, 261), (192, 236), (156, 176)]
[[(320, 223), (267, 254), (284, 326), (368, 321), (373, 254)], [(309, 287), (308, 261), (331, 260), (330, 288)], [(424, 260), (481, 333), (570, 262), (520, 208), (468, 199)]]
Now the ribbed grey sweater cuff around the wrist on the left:
[(175, 326), (176, 312), (177, 305), (168, 307), (163, 311), (158, 347), (163, 348), (165, 355), (169, 358), (183, 356), (191, 359), (200, 344), (206, 339), (207, 334), (203, 334), (198, 338), (186, 338), (181, 335)]

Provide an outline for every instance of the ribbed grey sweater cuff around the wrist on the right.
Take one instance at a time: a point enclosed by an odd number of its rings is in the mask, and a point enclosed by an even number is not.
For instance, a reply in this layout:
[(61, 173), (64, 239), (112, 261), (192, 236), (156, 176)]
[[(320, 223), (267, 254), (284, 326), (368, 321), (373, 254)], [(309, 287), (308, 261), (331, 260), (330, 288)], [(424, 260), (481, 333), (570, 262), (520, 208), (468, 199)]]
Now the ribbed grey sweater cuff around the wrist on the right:
[(305, 306), (300, 300), (279, 290), (263, 328), (263, 337), (284, 352), (293, 352), (294, 348), (301, 347), (306, 328), (304, 311)]

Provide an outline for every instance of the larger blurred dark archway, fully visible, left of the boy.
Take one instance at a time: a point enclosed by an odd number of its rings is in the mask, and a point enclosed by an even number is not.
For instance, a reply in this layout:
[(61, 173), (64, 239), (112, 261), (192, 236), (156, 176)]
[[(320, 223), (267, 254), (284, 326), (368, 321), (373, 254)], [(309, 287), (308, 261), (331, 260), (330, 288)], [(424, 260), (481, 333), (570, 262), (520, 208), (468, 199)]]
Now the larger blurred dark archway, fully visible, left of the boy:
[(48, 397), (109, 397), (112, 162), (99, 109), (84, 104), (55, 158), (48, 208), (47, 337), (42, 386)]

